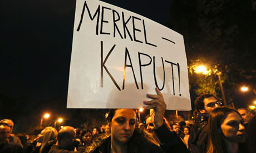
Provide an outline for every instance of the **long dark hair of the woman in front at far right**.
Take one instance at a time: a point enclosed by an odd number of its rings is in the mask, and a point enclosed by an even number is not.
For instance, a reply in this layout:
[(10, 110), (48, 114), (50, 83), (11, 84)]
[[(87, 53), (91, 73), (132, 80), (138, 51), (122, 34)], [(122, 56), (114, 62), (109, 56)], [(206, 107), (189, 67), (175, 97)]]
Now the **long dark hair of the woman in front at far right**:
[(227, 146), (225, 146), (225, 143), (221, 138), (221, 135), (223, 134), (222, 132), (220, 132), (220, 126), (223, 120), (227, 118), (228, 114), (233, 112), (241, 116), (237, 110), (230, 109), (227, 107), (216, 108), (213, 111), (211, 111), (208, 119), (209, 136), (207, 153), (228, 152)]

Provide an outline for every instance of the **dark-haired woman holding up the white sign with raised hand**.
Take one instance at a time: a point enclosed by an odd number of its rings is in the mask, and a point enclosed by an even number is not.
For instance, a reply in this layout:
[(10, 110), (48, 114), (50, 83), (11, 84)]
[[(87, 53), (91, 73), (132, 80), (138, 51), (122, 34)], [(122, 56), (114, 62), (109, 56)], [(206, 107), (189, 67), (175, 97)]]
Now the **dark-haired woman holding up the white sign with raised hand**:
[[(156, 88), (156, 93), (157, 95), (147, 94), (147, 97), (153, 100), (144, 101), (148, 105), (144, 106), (144, 108), (151, 109), (150, 114), (156, 127), (155, 132), (161, 144), (164, 144), (161, 147), (164, 150), (171, 150), (175, 149), (176, 146), (180, 146), (178, 152), (184, 152), (186, 146), (179, 139), (179, 136), (164, 125), (163, 116), (166, 104), (158, 88)], [(87, 152), (164, 152), (150, 134), (135, 127), (137, 123), (136, 109), (111, 109), (106, 114), (105, 119), (111, 128), (110, 135), (102, 136), (100, 141), (93, 142), (92, 146), (87, 148)], [(183, 146), (180, 144), (183, 144)]]

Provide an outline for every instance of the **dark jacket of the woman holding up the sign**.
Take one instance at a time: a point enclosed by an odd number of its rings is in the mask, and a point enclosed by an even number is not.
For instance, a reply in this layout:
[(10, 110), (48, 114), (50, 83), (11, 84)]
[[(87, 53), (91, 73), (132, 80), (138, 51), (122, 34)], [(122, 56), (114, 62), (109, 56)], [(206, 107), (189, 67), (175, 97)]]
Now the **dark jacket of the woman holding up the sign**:
[[(152, 142), (136, 141), (135, 152), (160, 153), (160, 152), (188, 152), (185, 144), (174, 131), (170, 131), (166, 125), (155, 130), (159, 137), (161, 147), (152, 144)], [(132, 138), (131, 138), (132, 139)], [(97, 146), (91, 153), (109, 153), (111, 151), (111, 137), (107, 137), (100, 146)], [(130, 152), (130, 151), (129, 151)]]

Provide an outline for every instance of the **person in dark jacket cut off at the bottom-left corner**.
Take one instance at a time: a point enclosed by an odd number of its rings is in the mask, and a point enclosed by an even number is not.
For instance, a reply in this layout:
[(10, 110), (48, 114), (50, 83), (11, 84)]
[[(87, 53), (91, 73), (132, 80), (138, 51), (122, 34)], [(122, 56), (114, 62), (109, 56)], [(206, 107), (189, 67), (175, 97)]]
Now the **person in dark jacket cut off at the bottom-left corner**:
[(9, 142), (8, 138), (11, 128), (6, 123), (0, 123), (0, 152), (1, 153), (22, 153), (22, 147), (14, 142)]

